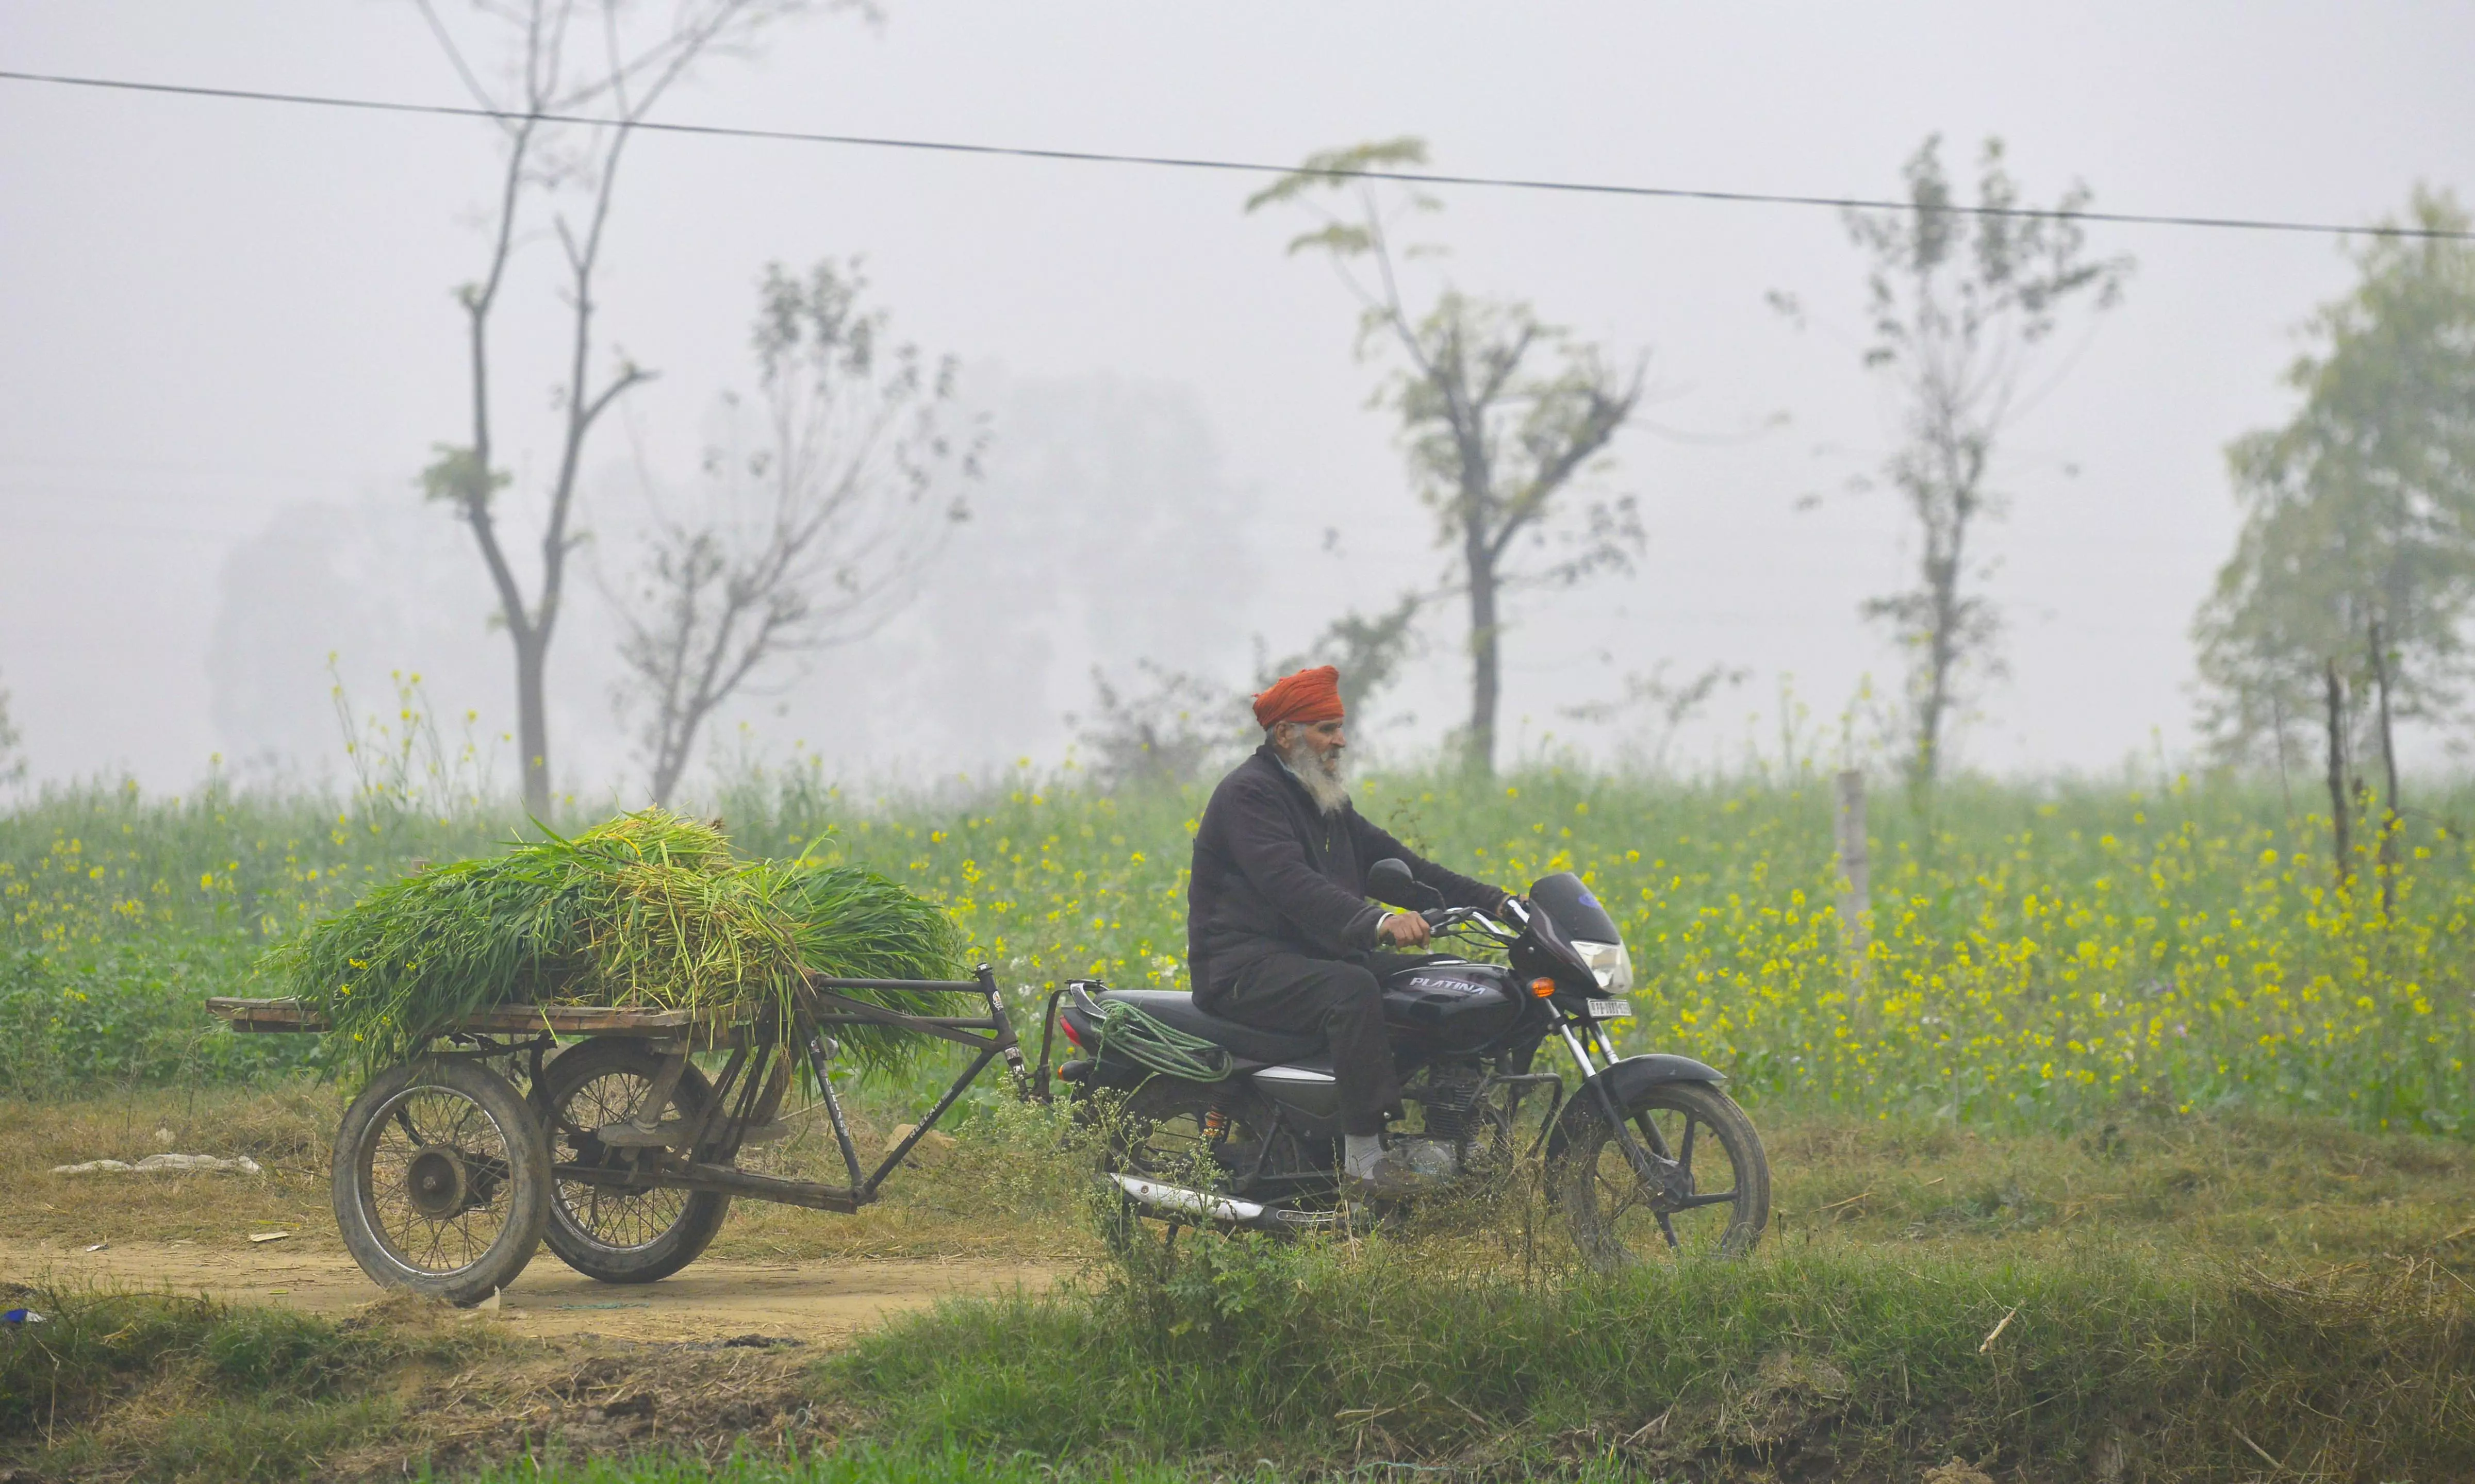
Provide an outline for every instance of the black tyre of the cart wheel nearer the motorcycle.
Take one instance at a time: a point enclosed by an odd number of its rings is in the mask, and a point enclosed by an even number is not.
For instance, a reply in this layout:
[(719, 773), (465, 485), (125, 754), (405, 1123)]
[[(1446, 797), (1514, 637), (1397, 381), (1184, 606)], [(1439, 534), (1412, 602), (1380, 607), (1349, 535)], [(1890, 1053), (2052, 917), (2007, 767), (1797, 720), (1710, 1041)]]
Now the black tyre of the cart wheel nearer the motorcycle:
[[(569, 1120), (562, 1113), (577, 1093), (606, 1076), (631, 1078), (641, 1091), (653, 1083), (658, 1071), (661, 1054), (634, 1036), (596, 1036), (552, 1056), (542, 1071), (542, 1086), (535, 1088), (544, 1145), (552, 1145), (554, 1155), (552, 1162), (579, 1153), (559, 1148), (572, 1143), (564, 1128)], [(671, 1093), (671, 1108), (681, 1118), (698, 1118), (710, 1101), (713, 1083), (691, 1061), (678, 1076), (678, 1088)], [(730, 1214), (730, 1197), (713, 1190), (648, 1190), (639, 1200), (678, 1200), (676, 1214), (658, 1232), (648, 1232), (644, 1242), (621, 1247), (594, 1234), (587, 1219), (572, 1209), (572, 1195), (582, 1190), (592, 1187), (562, 1185), (552, 1175), (549, 1227), (542, 1232), (542, 1239), (549, 1242), (549, 1252), (559, 1254), (559, 1261), (601, 1284), (656, 1284), (668, 1279), (705, 1252), (713, 1234), (723, 1229), (723, 1217)]]

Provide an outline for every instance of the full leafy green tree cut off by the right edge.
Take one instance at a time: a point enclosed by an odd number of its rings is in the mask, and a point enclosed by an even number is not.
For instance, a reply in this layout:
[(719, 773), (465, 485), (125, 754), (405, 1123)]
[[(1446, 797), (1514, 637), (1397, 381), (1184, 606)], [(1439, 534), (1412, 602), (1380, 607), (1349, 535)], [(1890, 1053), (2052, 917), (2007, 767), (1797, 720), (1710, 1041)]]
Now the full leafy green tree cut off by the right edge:
[[(2468, 230), (2416, 190), (2408, 228)], [(2339, 693), (2334, 747), (2458, 710), (2475, 606), (2475, 247), (2374, 235), (2361, 279), (2307, 322), (2282, 428), (2228, 448), (2242, 532), (2193, 623), (2203, 727), (2228, 762), (2284, 762)], [(2378, 638), (2376, 638), (2378, 636)], [(2344, 789), (2336, 799), (2344, 809)]]

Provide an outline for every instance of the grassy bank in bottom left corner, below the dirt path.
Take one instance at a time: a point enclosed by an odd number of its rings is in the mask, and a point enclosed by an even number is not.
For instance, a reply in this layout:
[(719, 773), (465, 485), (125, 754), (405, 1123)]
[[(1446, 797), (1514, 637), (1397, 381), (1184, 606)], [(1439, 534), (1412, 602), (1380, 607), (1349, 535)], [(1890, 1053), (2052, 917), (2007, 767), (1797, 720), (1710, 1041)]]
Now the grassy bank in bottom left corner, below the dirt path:
[(408, 1296), (349, 1318), (15, 1289), (0, 1479), (408, 1479), (611, 1452), (723, 1459), (829, 1437), (797, 1348), (542, 1343)]

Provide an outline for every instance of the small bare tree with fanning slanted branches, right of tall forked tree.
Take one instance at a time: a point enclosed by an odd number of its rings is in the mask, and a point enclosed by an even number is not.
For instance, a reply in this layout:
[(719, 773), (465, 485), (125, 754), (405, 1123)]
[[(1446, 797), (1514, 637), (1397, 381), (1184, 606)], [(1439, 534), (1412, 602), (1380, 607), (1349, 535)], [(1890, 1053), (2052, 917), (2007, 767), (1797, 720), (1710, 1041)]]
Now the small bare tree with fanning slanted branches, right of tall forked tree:
[(955, 403), (955, 359), (891, 344), (859, 265), (782, 265), (757, 289), (757, 418), (725, 398), (708, 450), (710, 502), (658, 522), (619, 603), (621, 712), (653, 801), (668, 804), (695, 735), (730, 695), (792, 653), (876, 633), (970, 510), (985, 428)]

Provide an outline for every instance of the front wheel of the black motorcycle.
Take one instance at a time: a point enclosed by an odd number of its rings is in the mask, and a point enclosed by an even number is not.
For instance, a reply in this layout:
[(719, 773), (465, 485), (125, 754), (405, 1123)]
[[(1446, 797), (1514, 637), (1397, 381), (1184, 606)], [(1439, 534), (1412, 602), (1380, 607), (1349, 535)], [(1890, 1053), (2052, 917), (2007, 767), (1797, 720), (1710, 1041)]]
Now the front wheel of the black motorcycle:
[(1577, 1096), (1569, 1138), (1549, 1153), (1547, 1190), (1582, 1259), (1621, 1269), (1752, 1252), (1770, 1224), (1770, 1160), (1735, 1098), (1708, 1083), (1658, 1083), (1634, 1093), (1624, 1115), (1651, 1180), (1634, 1170), (1594, 1091)]

